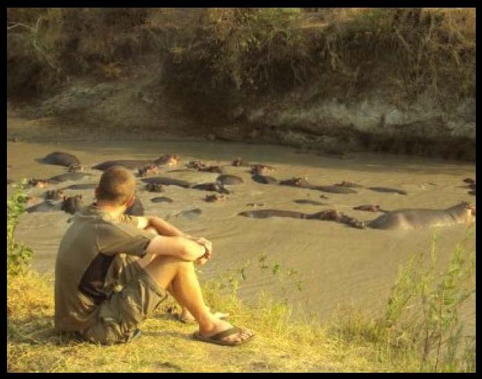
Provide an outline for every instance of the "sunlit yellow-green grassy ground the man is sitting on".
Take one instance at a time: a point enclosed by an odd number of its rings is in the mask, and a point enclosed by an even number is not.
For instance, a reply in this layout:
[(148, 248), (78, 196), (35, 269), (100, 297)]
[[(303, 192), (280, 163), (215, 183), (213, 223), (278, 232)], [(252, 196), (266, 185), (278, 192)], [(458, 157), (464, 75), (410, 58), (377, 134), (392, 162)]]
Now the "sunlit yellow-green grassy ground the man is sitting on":
[[(232, 314), (233, 324), (256, 331), (243, 346), (215, 346), (193, 340), (194, 325), (173, 317), (171, 300), (141, 325), (142, 335), (128, 344), (96, 346), (56, 335), (53, 281), (27, 272), (8, 276), (7, 369), (10, 372), (246, 372), (390, 371), (368, 346), (327, 335), (322, 326), (289, 321), (289, 310), (266, 299), (245, 306), (216, 296), (205, 285), (209, 303)], [(19, 301), (21, 299), (21, 301)], [(171, 312), (169, 312), (171, 310)]]

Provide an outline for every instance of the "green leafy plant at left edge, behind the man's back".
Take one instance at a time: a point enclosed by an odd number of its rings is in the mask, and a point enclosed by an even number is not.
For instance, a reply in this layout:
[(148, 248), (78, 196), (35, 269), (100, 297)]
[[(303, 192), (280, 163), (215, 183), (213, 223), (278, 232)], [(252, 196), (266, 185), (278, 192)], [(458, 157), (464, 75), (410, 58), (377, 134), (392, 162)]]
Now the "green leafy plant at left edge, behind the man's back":
[(25, 186), (26, 180), (17, 184), (14, 193), (7, 200), (7, 273), (12, 275), (24, 272), (32, 257), (31, 249), (15, 240), (15, 229), (27, 201)]

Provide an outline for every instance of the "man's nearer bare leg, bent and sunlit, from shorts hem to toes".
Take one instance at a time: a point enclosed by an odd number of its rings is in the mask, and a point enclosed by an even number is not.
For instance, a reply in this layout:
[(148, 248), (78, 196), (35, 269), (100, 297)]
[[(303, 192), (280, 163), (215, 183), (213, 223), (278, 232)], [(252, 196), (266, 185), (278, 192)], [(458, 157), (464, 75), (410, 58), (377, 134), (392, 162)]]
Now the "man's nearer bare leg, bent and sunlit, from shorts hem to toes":
[[(209, 307), (204, 302), (193, 263), (171, 256), (155, 256), (144, 266), (144, 270), (160, 287), (167, 289), (171, 285), (173, 292), (178, 297), (176, 300), (185, 306), (198, 321), (201, 335), (210, 337), (232, 328), (229, 322), (214, 317), (209, 311)], [(241, 330), (223, 340), (241, 342), (252, 335), (254, 333), (251, 330)]]

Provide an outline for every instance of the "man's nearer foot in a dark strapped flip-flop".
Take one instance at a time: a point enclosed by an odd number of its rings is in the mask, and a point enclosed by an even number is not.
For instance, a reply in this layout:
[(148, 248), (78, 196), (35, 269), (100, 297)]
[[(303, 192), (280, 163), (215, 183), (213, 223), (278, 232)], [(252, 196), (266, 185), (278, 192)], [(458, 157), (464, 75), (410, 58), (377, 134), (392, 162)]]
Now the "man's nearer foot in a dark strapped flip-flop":
[(203, 330), (194, 333), (193, 337), (212, 344), (236, 346), (250, 340), (255, 333), (245, 328), (236, 328), (229, 322), (219, 320), (211, 330)]

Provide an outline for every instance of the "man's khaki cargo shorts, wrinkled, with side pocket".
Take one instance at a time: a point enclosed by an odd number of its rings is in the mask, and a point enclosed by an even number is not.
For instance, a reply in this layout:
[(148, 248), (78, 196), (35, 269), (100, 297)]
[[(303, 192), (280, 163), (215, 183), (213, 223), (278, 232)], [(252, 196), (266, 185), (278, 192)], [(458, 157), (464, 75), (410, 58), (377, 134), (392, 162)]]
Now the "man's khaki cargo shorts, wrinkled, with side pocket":
[(101, 344), (128, 342), (139, 332), (137, 326), (167, 298), (138, 264), (137, 258), (118, 254), (107, 274), (112, 285), (109, 299), (99, 305), (96, 324), (80, 333), (84, 340)]

